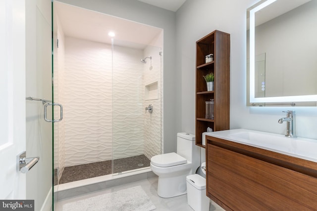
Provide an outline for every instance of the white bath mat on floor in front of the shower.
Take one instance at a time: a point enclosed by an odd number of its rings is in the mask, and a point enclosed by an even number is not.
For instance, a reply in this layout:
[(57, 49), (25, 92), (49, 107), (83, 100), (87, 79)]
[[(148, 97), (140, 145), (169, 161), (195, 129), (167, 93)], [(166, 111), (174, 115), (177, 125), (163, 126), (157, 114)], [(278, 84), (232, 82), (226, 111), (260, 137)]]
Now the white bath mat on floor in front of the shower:
[(63, 211), (153, 211), (155, 209), (141, 186), (63, 205)]

